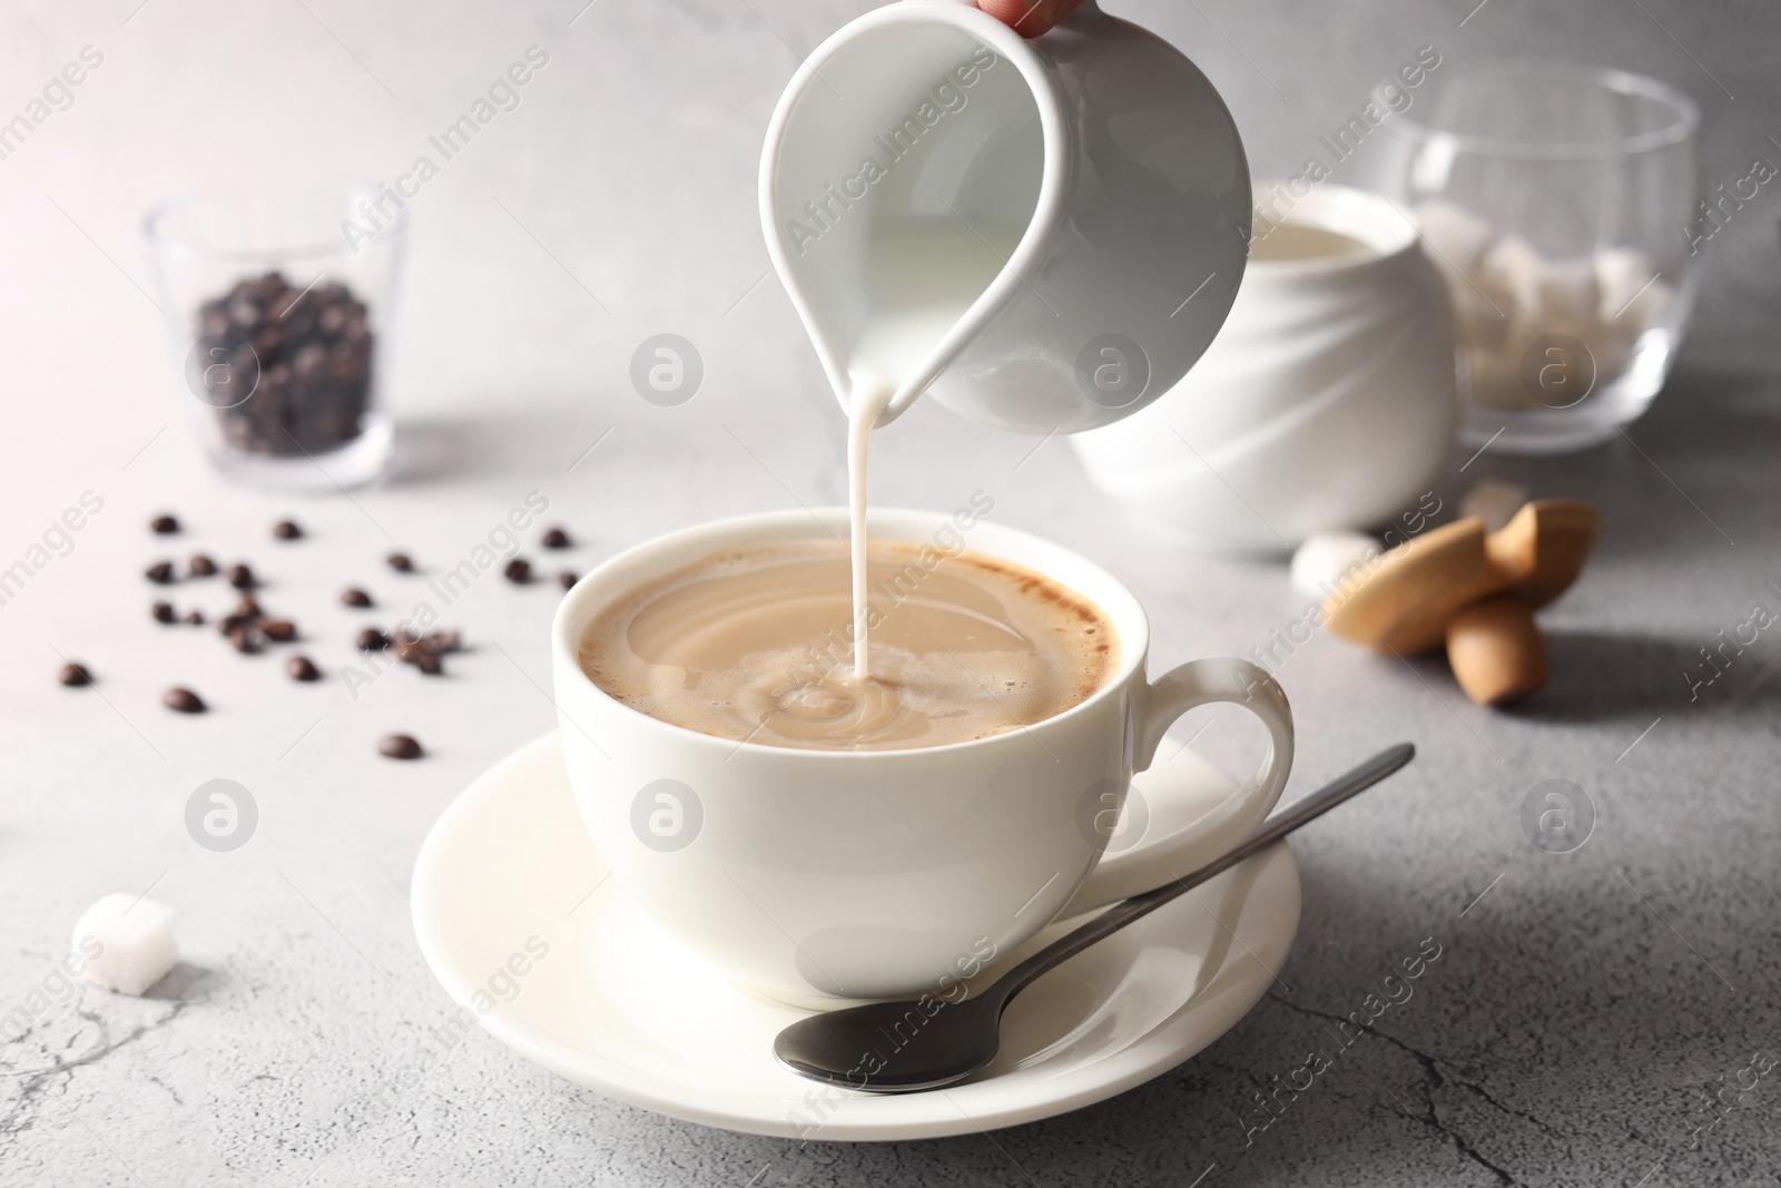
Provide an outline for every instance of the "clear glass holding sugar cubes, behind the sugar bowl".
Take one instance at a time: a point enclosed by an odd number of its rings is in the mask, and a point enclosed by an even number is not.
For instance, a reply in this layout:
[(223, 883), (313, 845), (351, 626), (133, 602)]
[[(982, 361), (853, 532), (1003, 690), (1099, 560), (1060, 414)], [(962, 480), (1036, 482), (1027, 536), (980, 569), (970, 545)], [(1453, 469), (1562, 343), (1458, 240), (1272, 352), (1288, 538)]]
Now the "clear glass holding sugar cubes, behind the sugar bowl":
[(1619, 69), (1432, 71), (1355, 162), (1416, 221), (1453, 299), (1460, 436), (1557, 454), (1637, 420), (1669, 374), (1713, 228), (1699, 109)]

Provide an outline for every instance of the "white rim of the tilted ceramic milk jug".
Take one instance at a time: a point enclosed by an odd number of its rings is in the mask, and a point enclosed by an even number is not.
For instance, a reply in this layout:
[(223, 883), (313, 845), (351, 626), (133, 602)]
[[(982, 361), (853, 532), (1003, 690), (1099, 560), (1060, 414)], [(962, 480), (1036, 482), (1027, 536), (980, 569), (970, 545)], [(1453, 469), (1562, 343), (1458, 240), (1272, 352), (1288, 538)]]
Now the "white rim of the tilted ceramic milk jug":
[[(1083, 7), (1094, 11), (1094, 0), (1088, 0)], [(974, 5), (958, 4), (958, 0), (903, 0), (901, 4), (887, 4), (873, 9), (842, 25), (810, 52), (810, 55), (793, 73), (791, 82), (785, 84), (785, 91), (780, 94), (778, 103), (773, 109), (773, 118), (768, 123), (766, 141), (760, 150), (757, 198), (760, 205), (762, 230), (766, 232), (768, 258), (773, 264), (773, 271), (785, 283), (785, 292), (791, 296), (793, 308), (798, 310), (798, 319), (805, 326), (812, 326), (816, 322), (816, 312), (810, 308), (809, 301), (805, 301), (803, 289), (796, 283), (796, 273), (791, 267), (791, 256), (785, 253), (785, 244), (773, 210), (775, 167), (780, 159), (780, 148), (785, 141), (785, 125), (791, 121), (791, 114), (798, 105), (798, 100), (803, 98), (814, 82), (821, 80), (819, 69), (823, 64), (826, 64), (858, 34), (892, 25), (951, 25), (953, 28), (980, 37), (985, 45), (996, 50), (996, 53), (1008, 59), (1015, 69), (1021, 71), (1021, 77), (1026, 80), (1028, 89), (1033, 94), (1033, 103), (1038, 109), (1040, 141), (1044, 144), (1045, 157), (1040, 162), (1038, 196), (1033, 203), (1033, 217), (1028, 219), (1026, 230), (1021, 232), (1021, 240), (1015, 244), (1013, 251), (1008, 253), (1008, 260), (1003, 264), (1001, 271), (996, 273), (990, 283), (983, 287), (983, 292), (978, 294), (971, 306), (958, 317), (956, 322), (953, 322), (940, 340), (933, 344), (921, 365), (912, 369), (908, 376), (903, 378), (903, 383), (898, 385), (898, 392), (890, 399), (889, 406), (878, 417), (880, 427), (903, 415), (903, 411), (915, 403), (915, 397), (933, 381), (933, 378), (958, 356), (965, 344), (976, 338), (994, 317), (1013, 303), (1021, 289), (1026, 287), (1026, 281), (1021, 278), (1033, 271), (1033, 265), (1038, 262), (1038, 255), (1044, 251), (1045, 244), (1054, 239), (1058, 224), (1063, 219), (1063, 191), (1069, 183), (1070, 139), (1070, 121), (1063, 94), (1058, 91), (1058, 85), (1051, 78), (1038, 52), (1035, 52), (1033, 46), (1021, 37), (1021, 34), (1013, 32), (1013, 28)], [(828, 372), (830, 383), (839, 390), (842, 387), (839, 381), (848, 374), (846, 360), (832, 358), (828, 335), (812, 333), (810, 338), (816, 344), (823, 370)]]

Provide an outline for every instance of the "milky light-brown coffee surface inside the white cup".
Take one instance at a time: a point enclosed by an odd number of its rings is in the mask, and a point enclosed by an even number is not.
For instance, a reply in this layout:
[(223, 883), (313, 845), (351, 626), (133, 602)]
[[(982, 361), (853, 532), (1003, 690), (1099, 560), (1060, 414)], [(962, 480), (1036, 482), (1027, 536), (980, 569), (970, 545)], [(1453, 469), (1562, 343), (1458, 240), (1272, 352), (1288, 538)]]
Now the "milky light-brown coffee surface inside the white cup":
[(944, 746), (1085, 702), (1118, 638), (1083, 595), (971, 550), (871, 541), (869, 668), (853, 675), (846, 543), (734, 549), (645, 582), (588, 625), (609, 696), (716, 737), (812, 750)]

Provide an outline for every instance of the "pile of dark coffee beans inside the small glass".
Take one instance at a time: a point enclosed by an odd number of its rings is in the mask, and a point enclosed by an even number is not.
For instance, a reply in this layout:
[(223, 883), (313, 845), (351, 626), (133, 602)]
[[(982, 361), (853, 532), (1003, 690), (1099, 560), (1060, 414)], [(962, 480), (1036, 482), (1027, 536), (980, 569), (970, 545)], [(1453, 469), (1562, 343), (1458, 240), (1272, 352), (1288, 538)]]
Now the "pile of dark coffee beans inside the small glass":
[[(363, 431), (376, 337), (346, 285), (244, 278), (198, 308), (198, 333), (212, 353), (228, 353), (230, 365), (207, 369), (201, 383), (217, 397), (210, 404), (230, 447), (301, 458)], [(242, 376), (256, 378), (249, 401), (228, 388)]]

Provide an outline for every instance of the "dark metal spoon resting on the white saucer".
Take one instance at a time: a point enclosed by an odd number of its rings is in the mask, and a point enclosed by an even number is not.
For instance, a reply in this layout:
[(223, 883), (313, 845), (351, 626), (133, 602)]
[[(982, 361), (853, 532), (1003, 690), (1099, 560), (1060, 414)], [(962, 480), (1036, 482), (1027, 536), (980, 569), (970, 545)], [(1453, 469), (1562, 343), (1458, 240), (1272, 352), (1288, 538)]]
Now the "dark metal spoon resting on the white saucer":
[[(869, 1094), (912, 1094), (964, 1081), (996, 1058), (996, 1049), (1001, 1046), (1003, 1010), (1040, 974), (1140, 915), (1149, 915), (1175, 896), (1229, 871), (1243, 858), (1266, 850), (1300, 825), (1314, 821), (1355, 793), (1378, 784), (1414, 757), (1416, 748), (1409, 743), (1380, 752), (1348, 775), (1265, 821), (1222, 858), (1167, 887), (1145, 891), (1108, 908), (1081, 928), (1053, 940), (974, 997), (962, 1003), (944, 1003), (933, 1013), (930, 1012), (937, 999), (930, 997), (926, 1003), (867, 1003), (810, 1015), (778, 1033), (773, 1040), (773, 1054), (800, 1076)], [(869, 1058), (882, 1063), (866, 1072)]]

